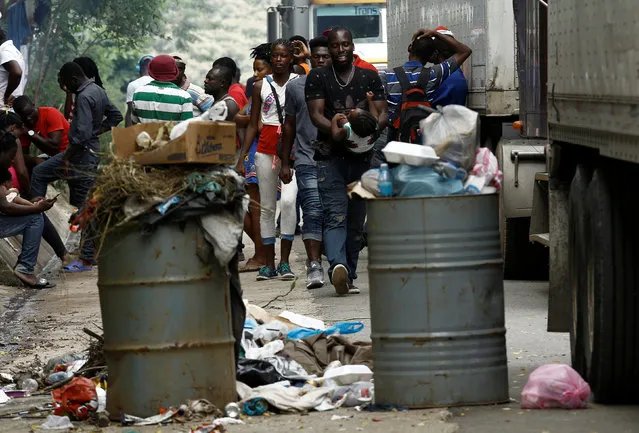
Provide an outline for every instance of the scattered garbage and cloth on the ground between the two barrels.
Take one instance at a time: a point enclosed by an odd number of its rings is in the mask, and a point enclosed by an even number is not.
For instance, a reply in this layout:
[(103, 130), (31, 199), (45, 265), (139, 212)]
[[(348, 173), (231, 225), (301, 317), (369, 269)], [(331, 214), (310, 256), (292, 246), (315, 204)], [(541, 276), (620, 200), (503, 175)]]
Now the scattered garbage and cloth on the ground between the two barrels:
[(372, 346), (344, 335), (361, 322), (324, 322), (246, 304), (237, 380), (245, 415), (365, 406), (374, 395)]

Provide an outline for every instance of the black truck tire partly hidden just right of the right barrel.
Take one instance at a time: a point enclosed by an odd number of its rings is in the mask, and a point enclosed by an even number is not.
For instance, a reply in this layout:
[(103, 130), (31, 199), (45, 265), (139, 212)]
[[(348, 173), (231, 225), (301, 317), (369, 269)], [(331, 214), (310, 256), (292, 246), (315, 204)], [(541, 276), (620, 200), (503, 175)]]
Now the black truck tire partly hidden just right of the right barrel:
[(530, 218), (509, 218), (504, 230), (504, 279), (548, 280), (549, 252), (530, 242)]

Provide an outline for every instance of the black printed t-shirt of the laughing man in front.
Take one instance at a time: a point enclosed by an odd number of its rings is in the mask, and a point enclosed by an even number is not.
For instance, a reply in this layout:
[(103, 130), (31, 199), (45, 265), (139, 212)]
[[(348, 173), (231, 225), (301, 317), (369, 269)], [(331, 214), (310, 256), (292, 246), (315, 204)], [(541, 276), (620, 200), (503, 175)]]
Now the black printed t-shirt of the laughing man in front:
[[(346, 114), (354, 108), (369, 111), (367, 92), (373, 92), (373, 101), (386, 100), (384, 86), (379, 75), (370, 69), (355, 68), (353, 79), (341, 87), (332, 67), (315, 68), (308, 74), (305, 86), (306, 102), (314, 99), (324, 100), (324, 116), (331, 120), (337, 113)], [(317, 132), (318, 141), (322, 142), (316, 153), (316, 159), (331, 156), (355, 156), (346, 149), (344, 143), (334, 143), (331, 134)], [(318, 155), (319, 153), (319, 155)]]

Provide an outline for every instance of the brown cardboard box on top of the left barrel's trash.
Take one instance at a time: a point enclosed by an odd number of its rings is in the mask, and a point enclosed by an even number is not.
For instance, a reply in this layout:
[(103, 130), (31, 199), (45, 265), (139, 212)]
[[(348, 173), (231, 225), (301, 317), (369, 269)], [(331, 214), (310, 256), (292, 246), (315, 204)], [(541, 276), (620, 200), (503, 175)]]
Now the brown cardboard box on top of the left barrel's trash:
[(235, 123), (191, 122), (181, 137), (169, 141), (150, 152), (136, 152), (135, 139), (143, 132), (157, 135), (164, 123), (140, 123), (128, 128), (113, 128), (115, 154), (121, 158), (132, 156), (142, 165), (163, 164), (233, 164), (237, 158)]

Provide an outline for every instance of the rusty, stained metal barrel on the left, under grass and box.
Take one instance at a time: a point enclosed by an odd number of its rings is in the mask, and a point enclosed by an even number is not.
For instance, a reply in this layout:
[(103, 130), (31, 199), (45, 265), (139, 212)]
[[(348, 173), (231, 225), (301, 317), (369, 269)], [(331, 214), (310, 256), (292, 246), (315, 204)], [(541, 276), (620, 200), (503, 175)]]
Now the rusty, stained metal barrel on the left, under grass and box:
[(106, 235), (98, 287), (112, 419), (236, 400), (230, 280), (212, 256), (195, 222)]

